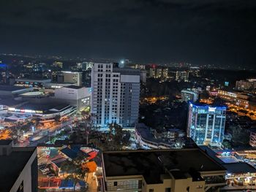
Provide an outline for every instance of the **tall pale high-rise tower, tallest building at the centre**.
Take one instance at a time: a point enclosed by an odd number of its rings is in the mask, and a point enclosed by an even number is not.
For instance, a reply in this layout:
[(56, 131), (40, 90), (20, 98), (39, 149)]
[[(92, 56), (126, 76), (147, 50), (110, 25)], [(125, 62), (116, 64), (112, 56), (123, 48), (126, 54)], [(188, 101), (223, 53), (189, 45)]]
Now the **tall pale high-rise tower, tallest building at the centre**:
[(94, 124), (135, 126), (140, 99), (140, 70), (115, 64), (94, 64), (91, 70), (91, 113)]

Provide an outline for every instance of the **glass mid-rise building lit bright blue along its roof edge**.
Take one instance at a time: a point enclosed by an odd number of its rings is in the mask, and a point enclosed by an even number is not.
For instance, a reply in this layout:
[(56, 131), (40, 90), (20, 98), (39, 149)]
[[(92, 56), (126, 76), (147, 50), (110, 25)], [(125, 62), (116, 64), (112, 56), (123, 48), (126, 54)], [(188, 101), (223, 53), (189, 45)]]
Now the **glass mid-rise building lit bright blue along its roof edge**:
[(189, 103), (187, 137), (197, 145), (221, 145), (225, 131), (226, 107)]

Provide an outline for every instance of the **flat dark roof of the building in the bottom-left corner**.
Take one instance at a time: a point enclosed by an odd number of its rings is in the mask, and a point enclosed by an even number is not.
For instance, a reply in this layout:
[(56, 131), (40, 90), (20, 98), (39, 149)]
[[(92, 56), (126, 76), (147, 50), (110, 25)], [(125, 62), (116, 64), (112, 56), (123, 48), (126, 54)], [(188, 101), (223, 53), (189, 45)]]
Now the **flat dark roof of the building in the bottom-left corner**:
[(36, 147), (13, 147), (10, 155), (0, 156), (0, 191), (10, 191)]

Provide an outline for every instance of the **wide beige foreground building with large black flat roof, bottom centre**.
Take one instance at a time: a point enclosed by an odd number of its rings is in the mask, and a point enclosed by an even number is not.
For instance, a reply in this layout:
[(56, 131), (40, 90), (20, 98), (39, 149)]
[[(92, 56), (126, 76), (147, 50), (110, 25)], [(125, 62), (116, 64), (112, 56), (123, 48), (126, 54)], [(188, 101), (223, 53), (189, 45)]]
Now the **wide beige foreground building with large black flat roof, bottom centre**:
[(103, 191), (217, 191), (225, 168), (199, 148), (102, 153)]

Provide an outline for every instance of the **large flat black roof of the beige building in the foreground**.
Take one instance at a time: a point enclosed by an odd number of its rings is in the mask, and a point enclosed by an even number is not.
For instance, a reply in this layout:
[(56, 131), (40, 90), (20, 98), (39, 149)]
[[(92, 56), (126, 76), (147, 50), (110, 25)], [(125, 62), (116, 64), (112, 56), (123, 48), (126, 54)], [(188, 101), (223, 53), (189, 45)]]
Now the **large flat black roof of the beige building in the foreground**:
[[(185, 177), (191, 169), (196, 172), (223, 171), (199, 148), (181, 150), (127, 150), (103, 152), (106, 177), (143, 175), (146, 183), (162, 183), (165, 169), (177, 170), (176, 177)], [(189, 161), (187, 161), (189, 159)]]

